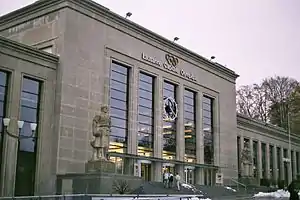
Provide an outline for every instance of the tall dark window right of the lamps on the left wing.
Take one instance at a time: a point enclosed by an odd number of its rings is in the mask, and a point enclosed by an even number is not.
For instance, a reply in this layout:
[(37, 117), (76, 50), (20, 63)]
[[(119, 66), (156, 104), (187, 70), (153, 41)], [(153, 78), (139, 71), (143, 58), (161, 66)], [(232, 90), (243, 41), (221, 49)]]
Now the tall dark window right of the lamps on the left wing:
[[(20, 120), (24, 121), (20, 135), (32, 134), (30, 123), (39, 124), (41, 83), (39, 81), (23, 78), (20, 100)], [(38, 130), (35, 132), (37, 136)], [(16, 196), (30, 196), (34, 194), (35, 169), (37, 156), (37, 138), (22, 139), (19, 141), (19, 151), (16, 171)]]

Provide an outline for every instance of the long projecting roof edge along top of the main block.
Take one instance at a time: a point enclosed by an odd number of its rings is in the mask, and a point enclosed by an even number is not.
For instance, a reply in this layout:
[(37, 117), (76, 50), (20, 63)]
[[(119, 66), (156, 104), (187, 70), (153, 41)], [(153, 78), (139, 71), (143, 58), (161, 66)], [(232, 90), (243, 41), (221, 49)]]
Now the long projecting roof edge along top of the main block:
[[(10, 23), (14, 20), (18, 20), (21, 18), (24, 18), (26, 15), (30, 15), (36, 12), (41, 11), (45, 7), (51, 7), (52, 5), (57, 5), (59, 3), (63, 2), (71, 2), (75, 3), (76, 5), (85, 8), (87, 10), (91, 10), (93, 12), (96, 12), (98, 15), (108, 15), (108, 19), (118, 23), (118, 25), (123, 26), (127, 29), (131, 29), (134, 32), (137, 32), (147, 38), (150, 38), (154, 40), (155, 42), (161, 43), (164, 46), (167, 46), (168, 48), (174, 50), (175, 52), (178, 52), (180, 54), (186, 55), (192, 59), (194, 59), (196, 62), (206, 64), (208, 68), (211, 70), (217, 71), (226, 77), (233, 79), (236, 81), (236, 79), (239, 77), (238, 74), (236, 74), (233, 70), (215, 62), (211, 62), (209, 59), (179, 45), (171, 40), (135, 23), (128, 19), (125, 19), (124, 17), (118, 15), (117, 13), (114, 13), (110, 11), (108, 8), (92, 1), (92, 0), (38, 0), (28, 6), (25, 6), (23, 8), (20, 8), (18, 10), (15, 10), (11, 13), (8, 13), (6, 15), (3, 15), (0, 17), (0, 27), (4, 24)], [(106, 18), (107, 19), (107, 18)]]

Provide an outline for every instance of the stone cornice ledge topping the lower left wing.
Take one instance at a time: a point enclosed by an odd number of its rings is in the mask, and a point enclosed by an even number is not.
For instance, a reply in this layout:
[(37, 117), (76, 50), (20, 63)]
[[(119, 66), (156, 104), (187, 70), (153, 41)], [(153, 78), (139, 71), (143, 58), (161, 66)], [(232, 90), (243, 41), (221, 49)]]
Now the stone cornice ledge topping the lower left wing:
[(59, 57), (56, 55), (38, 50), (34, 47), (27, 46), (22, 43), (15, 42), (2, 36), (0, 36), (0, 46), (3, 48), (10, 49), (12, 51), (17, 51), (25, 55), (42, 59), (50, 63), (57, 64), (59, 62)]

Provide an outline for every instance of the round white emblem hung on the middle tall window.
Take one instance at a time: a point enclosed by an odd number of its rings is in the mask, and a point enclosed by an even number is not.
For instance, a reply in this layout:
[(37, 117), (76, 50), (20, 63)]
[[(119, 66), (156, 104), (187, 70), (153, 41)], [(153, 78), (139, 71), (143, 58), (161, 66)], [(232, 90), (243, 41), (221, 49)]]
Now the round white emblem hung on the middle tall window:
[(164, 97), (164, 115), (165, 121), (174, 121), (177, 118), (178, 108), (175, 99)]

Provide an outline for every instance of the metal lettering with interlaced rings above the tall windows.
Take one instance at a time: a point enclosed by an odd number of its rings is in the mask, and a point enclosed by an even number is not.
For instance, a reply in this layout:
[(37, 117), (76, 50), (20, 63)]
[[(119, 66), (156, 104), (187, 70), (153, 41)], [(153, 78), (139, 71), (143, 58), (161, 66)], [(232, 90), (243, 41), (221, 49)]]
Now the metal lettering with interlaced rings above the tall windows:
[(180, 69), (180, 70), (177, 69), (177, 65), (179, 64), (179, 59), (173, 55), (166, 54), (165, 56), (166, 61), (162, 62), (160, 60), (157, 60), (155, 57), (151, 57), (146, 55), (145, 53), (142, 53), (142, 59), (158, 67), (162, 67), (168, 71), (179, 74), (188, 80), (196, 82), (196, 77), (192, 73), (186, 72), (184, 69)]

